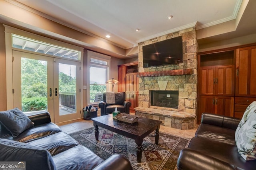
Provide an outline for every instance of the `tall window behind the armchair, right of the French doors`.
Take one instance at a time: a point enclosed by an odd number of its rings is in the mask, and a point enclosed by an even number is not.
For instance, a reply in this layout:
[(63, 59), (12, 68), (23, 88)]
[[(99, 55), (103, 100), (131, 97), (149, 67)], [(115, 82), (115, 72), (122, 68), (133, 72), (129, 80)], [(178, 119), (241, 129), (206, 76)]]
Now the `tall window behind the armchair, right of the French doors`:
[(106, 81), (109, 79), (110, 58), (88, 51), (89, 104), (102, 101), (103, 93), (106, 92)]

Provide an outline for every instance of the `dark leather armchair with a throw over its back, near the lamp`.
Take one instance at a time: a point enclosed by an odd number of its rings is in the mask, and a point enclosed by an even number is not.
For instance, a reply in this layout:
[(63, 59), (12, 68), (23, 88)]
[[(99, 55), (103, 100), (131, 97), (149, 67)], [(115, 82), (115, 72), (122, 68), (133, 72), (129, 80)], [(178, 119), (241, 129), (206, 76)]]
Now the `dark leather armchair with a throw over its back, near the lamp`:
[(127, 113), (130, 114), (130, 107), (131, 102), (128, 100), (125, 100), (125, 92), (116, 92), (115, 93), (115, 104), (107, 104), (106, 103), (106, 93), (103, 93), (103, 100), (98, 104), (100, 107), (100, 115), (107, 115), (115, 111), (115, 108), (117, 107), (117, 110), (121, 113)]

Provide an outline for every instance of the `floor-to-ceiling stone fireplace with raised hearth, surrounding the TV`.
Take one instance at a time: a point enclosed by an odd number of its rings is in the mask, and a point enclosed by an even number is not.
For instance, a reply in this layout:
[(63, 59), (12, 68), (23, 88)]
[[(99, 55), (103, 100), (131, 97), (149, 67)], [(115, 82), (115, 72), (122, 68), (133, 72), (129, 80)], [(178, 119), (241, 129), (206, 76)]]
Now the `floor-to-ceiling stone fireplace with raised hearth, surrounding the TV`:
[[(182, 36), (183, 63), (143, 68), (144, 45), (178, 36)], [(162, 125), (176, 129), (196, 126), (197, 51), (194, 27), (139, 43), (139, 107), (135, 108), (136, 115), (162, 120)], [(176, 94), (170, 94), (172, 91)], [(152, 97), (154, 92), (158, 93), (157, 98)], [(176, 99), (171, 100), (174, 96)], [(169, 107), (174, 103), (174, 107)]]

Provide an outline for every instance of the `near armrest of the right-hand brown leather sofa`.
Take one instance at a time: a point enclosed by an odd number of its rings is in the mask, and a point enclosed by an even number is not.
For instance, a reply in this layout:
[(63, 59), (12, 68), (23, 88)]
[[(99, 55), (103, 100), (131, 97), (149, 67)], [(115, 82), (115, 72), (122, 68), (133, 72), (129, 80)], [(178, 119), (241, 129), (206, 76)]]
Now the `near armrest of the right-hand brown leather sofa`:
[(178, 170), (243, 170), (189, 148), (180, 151), (177, 168)]

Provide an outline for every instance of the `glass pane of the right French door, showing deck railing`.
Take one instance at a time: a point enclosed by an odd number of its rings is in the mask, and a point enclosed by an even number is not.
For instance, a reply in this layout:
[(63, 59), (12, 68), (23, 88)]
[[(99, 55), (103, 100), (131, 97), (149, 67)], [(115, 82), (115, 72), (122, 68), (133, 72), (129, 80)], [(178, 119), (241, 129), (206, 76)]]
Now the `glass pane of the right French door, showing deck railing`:
[(59, 63), (59, 115), (76, 113), (76, 66)]

